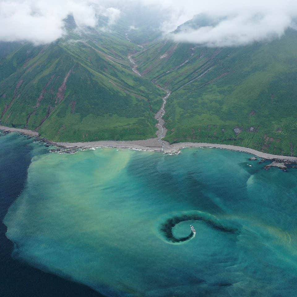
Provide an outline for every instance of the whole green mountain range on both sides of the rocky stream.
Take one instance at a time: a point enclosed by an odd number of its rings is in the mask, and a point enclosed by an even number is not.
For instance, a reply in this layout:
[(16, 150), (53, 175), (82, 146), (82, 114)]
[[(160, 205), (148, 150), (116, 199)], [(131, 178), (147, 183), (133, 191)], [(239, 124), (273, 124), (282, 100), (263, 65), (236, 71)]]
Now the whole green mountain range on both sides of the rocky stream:
[[(155, 137), (162, 87), (171, 91), (164, 115), (170, 143), (297, 155), (296, 31), (209, 48), (161, 38), (157, 14), (148, 22), (141, 12), (134, 22), (133, 11), (126, 14), (112, 31), (77, 32), (69, 17), (68, 35), (50, 45), (0, 43), (1, 124), (55, 141), (147, 139)], [(216, 22), (197, 15), (174, 33)]]

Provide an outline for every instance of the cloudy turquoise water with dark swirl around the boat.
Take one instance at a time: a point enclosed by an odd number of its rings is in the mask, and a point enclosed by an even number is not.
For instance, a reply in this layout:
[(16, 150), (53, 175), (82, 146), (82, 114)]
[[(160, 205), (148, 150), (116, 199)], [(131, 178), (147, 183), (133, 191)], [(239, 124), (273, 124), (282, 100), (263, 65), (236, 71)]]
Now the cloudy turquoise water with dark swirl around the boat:
[(297, 170), (249, 157), (39, 154), (4, 219), (13, 257), (106, 296), (296, 296)]

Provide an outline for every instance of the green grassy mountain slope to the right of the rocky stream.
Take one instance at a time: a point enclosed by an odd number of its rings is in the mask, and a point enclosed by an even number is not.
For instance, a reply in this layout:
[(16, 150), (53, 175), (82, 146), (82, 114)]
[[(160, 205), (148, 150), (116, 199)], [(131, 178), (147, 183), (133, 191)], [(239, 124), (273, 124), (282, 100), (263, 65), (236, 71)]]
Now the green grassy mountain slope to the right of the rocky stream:
[[(160, 41), (136, 56), (140, 72), (173, 91), (166, 105), (166, 140), (296, 156), (297, 33), (245, 47), (193, 46)], [(242, 132), (235, 135), (235, 127)]]

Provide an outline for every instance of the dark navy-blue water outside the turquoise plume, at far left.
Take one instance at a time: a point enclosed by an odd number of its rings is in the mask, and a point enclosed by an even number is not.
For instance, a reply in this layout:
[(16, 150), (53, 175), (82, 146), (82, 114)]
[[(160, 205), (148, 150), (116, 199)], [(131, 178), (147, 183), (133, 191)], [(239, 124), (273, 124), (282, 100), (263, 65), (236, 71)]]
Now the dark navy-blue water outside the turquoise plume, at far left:
[(37, 146), (24, 136), (0, 136), (0, 296), (100, 297), (101, 294), (87, 286), (45, 273), (11, 257), (13, 243), (5, 236), (7, 228), (2, 220), (24, 188), (32, 155), (46, 153), (42, 146)]

